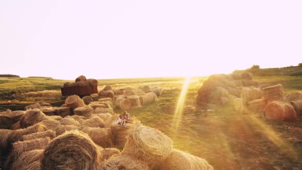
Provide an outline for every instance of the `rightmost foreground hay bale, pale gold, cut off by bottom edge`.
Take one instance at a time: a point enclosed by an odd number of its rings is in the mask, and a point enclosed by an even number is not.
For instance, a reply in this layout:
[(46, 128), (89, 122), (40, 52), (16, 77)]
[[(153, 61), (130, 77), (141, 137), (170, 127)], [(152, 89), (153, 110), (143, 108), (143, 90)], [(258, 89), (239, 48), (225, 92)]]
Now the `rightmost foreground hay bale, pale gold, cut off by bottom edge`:
[(204, 159), (173, 149), (160, 170), (214, 170), (214, 168)]

